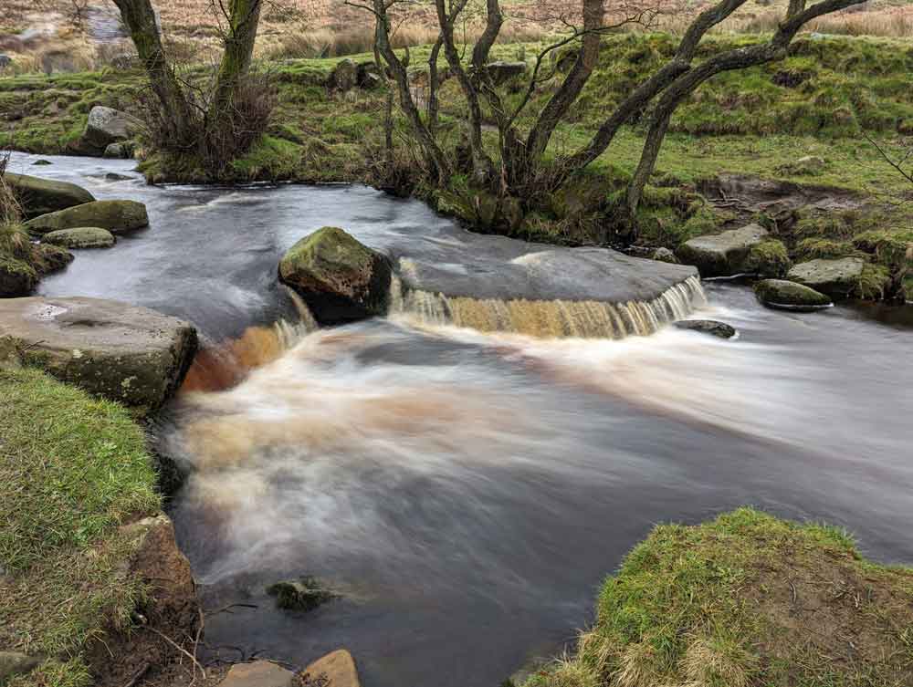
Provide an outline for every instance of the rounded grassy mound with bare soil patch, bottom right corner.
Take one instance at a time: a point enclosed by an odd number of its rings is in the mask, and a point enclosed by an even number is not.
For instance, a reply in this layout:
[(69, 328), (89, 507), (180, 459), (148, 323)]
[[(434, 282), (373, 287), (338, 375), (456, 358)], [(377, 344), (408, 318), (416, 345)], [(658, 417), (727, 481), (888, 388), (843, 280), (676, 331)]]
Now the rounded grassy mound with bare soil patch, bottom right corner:
[(526, 687), (913, 684), (913, 570), (834, 527), (741, 508), (657, 526), (606, 579), (577, 653)]

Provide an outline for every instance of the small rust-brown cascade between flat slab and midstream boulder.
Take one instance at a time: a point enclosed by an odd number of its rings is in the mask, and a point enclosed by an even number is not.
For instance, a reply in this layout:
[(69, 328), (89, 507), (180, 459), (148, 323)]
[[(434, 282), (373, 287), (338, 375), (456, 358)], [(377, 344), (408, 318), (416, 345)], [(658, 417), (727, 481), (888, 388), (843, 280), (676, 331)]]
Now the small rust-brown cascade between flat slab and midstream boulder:
[(307, 304), (288, 286), (297, 320), (279, 319), (269, 326), (248, 327), (238, 338), (205, 346), (196, 354), (184, 378), (182, 391), (221, 391), (230, 389), (254, 370), (279, 359), (301, 338), (318, 328)]

